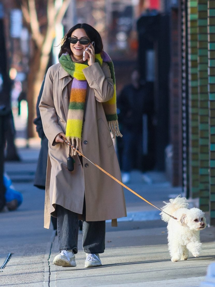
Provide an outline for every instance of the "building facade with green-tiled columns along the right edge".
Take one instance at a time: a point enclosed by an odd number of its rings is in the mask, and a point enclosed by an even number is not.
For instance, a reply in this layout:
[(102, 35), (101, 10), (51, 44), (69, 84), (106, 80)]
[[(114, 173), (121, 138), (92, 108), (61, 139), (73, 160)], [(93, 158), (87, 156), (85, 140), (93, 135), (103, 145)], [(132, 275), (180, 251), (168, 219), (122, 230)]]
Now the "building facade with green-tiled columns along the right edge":
[(172, 181), (182, 182), (187, 197), (199, 198), (214, 225), (215, 1), (178, 1), (170, 13)]

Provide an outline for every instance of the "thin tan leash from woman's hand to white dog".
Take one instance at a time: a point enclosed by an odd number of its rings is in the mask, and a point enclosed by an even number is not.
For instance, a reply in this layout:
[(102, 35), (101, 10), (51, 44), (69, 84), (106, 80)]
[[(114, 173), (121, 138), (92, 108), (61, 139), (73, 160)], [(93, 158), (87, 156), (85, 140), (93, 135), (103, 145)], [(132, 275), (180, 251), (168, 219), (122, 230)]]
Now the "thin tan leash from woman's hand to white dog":
[[(83, 158), (86, 158), (86, 160), (88, 160), (89, 162), (91, 162), (91, 160), (89, 160), (86, 156), (84, 156), (81, 152), (79, 152), (79, 150), (77, 150), (76, 148), (74, 148), (73, 145), (71, 145), (71, 143), (65, 138), (65, 137), (61, 137), (67, 144), (68, 146), (70, 146), (73, 150), (75, 150), (79, 156), (83, 156)], [(133, 191), (132, 189), (130, 189), (128, 186), (124, 185), (124, 183), (122, 183), (121, 181), (119, 181), (118, 179), (116, 179), (115, 177), (113, 177), (110, 173), (108, 173), (106, 170), (104, 170), (103, 168), (101, 168), (100, 166), (98, 166), (97, 164), (95, 164), (94, 162), (91, 162), (91, 164), (95, 165), (97, 168), (99, 168), (101, 171), (103, 171), (105, 174), (107, 174), (109, 177), (111, 177), (112, 179), (114, 179), (116, 182), (118, 182), (120, 185), (122, 185), (123, 187), (125, 187), (126, 189), (128, 189), (130, 192), (134, 193), (136, 196), (140, 197), (142, 200), (146, 201), (148, 204), (152, 205), (153, 207), (157, 208), (158, 210), (160, 210), (161, 212), (169, 215), (171, 218), (176, 219), (176, 217), (164, 212), (163, 210), (161, 210), (160, 208), (158, 208), (157, 206), (155, 206), (154, 204), (152, 204), (151, 202), (149, 202), (148, 200), (146, 200), (144, 197), (142, 197), (141, 195), (139, 195), (138, 193), (136, 193), (135, 191)]]

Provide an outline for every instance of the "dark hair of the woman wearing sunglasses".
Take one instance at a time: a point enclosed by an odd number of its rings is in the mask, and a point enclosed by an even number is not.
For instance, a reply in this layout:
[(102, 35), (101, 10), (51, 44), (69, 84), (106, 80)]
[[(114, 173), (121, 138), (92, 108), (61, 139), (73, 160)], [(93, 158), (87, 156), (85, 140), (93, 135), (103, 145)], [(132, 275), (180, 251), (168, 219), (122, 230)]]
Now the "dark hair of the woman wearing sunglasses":
[(103, 51), (103, 43), (102, 43), (99, 32), (95, 30), (92, 26), (90, 26), (89, 24), (82, 23), (82, 24), (76, 24), (75, 26), (73, 26), (64, 36), (62, 45), (60, 47), (59, 57), (63, 53), (69, 53), (69, 55), (72, 53), (68, 38), (71, 37), (72, 32), (76, 29), (84, 29), (90, 41), (95, 42), (95, 54), (101, 53)]

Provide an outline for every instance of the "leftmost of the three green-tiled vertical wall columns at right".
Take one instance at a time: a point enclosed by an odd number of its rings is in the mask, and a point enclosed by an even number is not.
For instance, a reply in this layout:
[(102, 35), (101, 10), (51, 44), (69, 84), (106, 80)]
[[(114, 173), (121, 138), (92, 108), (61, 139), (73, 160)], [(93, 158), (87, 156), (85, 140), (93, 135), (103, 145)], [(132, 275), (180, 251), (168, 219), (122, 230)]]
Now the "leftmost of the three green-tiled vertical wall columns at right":
[[(187, 1), (188, 97), (189, 97), (189, 186), (190, 195), (199, 196), (199, 106), (198, 106), (198, 1)], [(205, 35), (203, 35), (205, 36)], [(204, 38), (204, 37), (203, 37)], [(203, 53), (204, 54), (204, 53)], [(204, 60), (205, 55), (199, 55)], [(202, 59), (201, 59), (202, 63)], [(203, 64), (205, 61), (203, 62)]]

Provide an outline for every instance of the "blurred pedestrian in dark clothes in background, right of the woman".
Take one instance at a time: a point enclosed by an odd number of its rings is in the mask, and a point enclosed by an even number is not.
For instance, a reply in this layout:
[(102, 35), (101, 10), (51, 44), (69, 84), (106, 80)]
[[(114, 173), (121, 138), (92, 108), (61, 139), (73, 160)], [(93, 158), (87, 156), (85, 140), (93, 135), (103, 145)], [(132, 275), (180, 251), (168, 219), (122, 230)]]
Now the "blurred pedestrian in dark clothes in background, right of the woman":
[[(130, 181), (130, 172), (136, 168), (142, 171), (143, 122), (144, 115), (153, 114), (153, 96), (148, 94), (145, 84), (140, 83), (137, 69), (131, 74), (131, 84), (124, 86), (118, 97), (119, 123), (123, 137), (120, 154), (122, 181)], [(147, 129), (147, 127), (146, 127)]]

